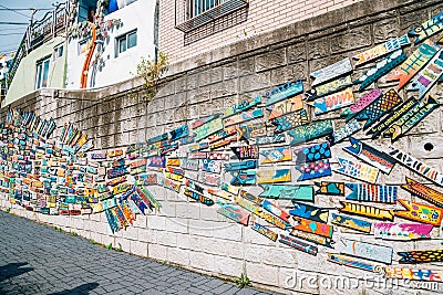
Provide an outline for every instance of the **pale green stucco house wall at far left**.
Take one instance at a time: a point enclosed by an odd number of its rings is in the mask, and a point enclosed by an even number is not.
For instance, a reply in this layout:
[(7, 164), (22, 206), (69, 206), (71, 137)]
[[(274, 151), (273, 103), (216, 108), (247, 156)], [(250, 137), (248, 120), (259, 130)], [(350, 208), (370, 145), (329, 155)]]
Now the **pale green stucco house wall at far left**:
[[(63, 44), (64, 39), (62, 36), (56, 36), (50, 42), (39, 46), (38, 49), (30, 52), (29, 55), (23, 57), (17, 69), (14, 78), (4, 101), (4, 105), (10, 104), (18, 97), (22, 97), (34, 91), (35, 88), (35, 72), (37, 63), (45, 57), (51, 57), (50, 70), (48, 75), (48, 87), (62, 88), (64, 87), (64, 65), (66, 57), (66, 49), (64, 46), (63, 56), (54, 60), (53, 52), (54, 49)], [(64, 45), (64, 44), (63, 44)]]

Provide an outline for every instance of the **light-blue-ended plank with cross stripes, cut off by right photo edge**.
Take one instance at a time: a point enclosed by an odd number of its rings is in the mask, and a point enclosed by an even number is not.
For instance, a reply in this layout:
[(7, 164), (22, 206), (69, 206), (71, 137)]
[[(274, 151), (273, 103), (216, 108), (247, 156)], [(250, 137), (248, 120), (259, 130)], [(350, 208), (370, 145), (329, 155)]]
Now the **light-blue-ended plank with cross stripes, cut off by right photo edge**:
[(443, 50), (440, 49), (434, 57), (416, 74), (408, 91), (419, 91), (419, 99), (434, 86), (443, 74)]

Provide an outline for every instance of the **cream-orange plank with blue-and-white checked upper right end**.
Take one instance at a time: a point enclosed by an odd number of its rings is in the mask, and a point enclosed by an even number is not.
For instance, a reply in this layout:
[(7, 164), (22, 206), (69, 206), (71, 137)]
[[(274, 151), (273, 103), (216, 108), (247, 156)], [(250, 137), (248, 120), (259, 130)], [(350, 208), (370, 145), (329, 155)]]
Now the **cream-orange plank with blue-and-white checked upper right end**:
[(377, 45), (372, 49), (369, 49), (367, 51), (363, 51), (362, 53), (359, 53), (359, 54), (352, 56), (352, 59), (357, 60), (357, 62), (354, 63), (354, 66), (359, 66), (363, 63), (373, 61), (378, 57), (381, 57), (394, 50), (399, 50), (402, 46), (405, 46), (409, 44), (410, 44), (410, 41), (409, 41), (408, 34), (404, 34), (399, 38), (394, 38), (390, 41), (387, 41), (380, 45)]

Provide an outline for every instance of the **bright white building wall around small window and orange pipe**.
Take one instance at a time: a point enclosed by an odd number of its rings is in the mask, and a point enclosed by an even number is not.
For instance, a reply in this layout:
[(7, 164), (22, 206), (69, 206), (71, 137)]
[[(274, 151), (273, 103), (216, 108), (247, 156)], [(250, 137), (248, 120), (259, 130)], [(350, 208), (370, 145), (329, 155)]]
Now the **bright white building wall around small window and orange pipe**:
[[(109, 31), (104, 42), (104, 51), (101, 54), (102, 66), (97, 66), (95, 83), (93, 75), (94, 60), (97, 48), (90, 65), (87, 87), (102, 87), (134, 77), (136, 66), (142, 57), (154, 59), (154, 14), (155, 0), (138, 0), (115, 12), (110, 13), (104, 20), (121, 19), (122, 24)], [(137, 45), (120, 53), (116, 56), (116, 38), (137, 30)], [(79, 53), (79, 43), (84, 39), (75, 38), (70, 40), (68, 45), (66, 88), (80, 88), (80, 78), (86, 53)]]

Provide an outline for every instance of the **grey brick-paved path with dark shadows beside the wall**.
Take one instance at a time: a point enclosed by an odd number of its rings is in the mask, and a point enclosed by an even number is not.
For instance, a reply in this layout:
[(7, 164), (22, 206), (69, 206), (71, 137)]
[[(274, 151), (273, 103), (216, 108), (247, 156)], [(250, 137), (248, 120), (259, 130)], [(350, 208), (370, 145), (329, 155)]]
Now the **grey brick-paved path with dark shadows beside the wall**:
[(0, 294), (271, 294), (100, 247), (0, 211)]

